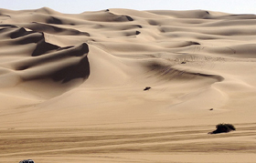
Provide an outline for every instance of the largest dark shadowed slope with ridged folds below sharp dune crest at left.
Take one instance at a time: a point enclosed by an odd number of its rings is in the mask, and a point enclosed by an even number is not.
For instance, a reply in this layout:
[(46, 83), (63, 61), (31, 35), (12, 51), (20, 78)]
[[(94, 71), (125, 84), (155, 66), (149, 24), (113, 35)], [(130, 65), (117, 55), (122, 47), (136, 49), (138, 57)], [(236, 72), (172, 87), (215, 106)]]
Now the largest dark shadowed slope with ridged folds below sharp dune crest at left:
[[(39, 44), (40, 48), (45, 47), (45, 50), (49, 50), (47, 43)], [(35, 51), (38, 51), (37, 49)], [(84, 43), (80, 46), (60, 48), (45, 55), (32, 56), (14, 65), (17, 71), (22, 72), (21, 77), (24, 81), (51, 78), (55, 82), (67, 83), (76, 78), (85, 80), (90, 76), (88, 52), (89, 47)], [(41, 67), (40, 70), (33, 73), (37, 67)]]

